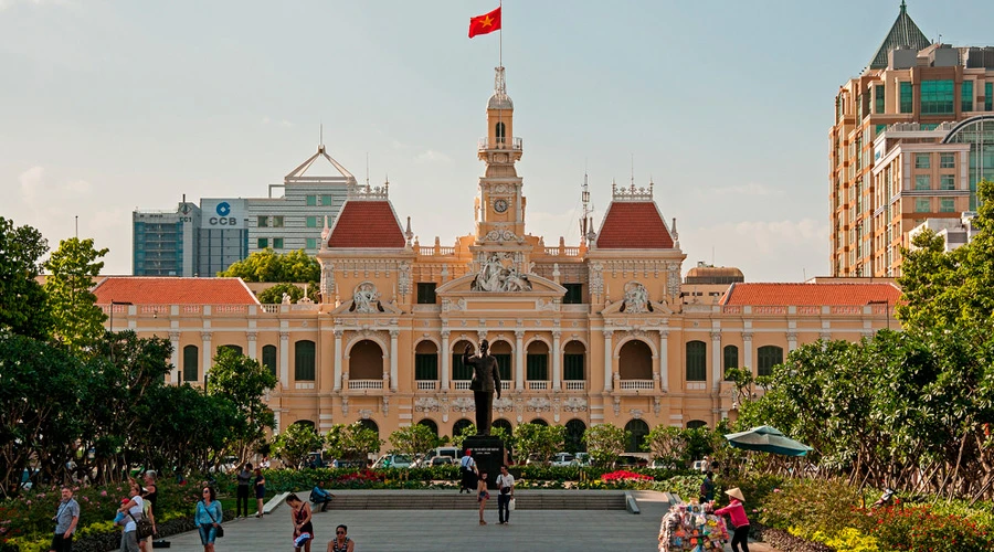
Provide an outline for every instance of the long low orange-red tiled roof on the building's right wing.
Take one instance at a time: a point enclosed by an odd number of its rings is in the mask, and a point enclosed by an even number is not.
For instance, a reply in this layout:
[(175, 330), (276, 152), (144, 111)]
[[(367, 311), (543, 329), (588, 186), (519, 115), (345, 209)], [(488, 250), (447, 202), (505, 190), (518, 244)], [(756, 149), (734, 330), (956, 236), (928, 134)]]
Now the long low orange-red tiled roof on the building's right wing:
[(901, 290), (893, 284), (732, 284), (721, 305), (866, 305), (900, 300)]

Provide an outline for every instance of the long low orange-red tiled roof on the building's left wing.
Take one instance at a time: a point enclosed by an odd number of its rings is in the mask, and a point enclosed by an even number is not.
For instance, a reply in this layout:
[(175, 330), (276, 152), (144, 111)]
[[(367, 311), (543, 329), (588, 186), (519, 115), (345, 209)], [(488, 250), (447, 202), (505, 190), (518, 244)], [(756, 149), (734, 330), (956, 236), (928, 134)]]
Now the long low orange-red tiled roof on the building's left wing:
[(108, 277), (93, 293), (97, 305), (258, 305), (241, 278)]

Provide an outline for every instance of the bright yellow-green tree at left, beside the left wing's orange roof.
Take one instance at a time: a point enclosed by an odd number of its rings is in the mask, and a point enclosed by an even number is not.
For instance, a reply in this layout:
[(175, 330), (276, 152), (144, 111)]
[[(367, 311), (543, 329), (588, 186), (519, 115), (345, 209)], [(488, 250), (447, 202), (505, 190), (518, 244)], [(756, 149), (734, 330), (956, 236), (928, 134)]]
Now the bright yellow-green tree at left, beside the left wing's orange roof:
[(71, 237), (63, 240), (44, 264), (53, 335), (72, 350), (86, 350), (104, 335), (107, 315), (95, 305), (96, 296), (89, 289), (104, 267), (97, 259), (108, 251), (94, 248), (93, 238)]

